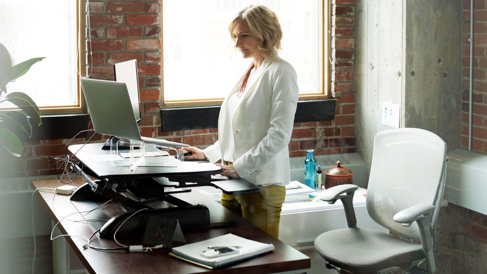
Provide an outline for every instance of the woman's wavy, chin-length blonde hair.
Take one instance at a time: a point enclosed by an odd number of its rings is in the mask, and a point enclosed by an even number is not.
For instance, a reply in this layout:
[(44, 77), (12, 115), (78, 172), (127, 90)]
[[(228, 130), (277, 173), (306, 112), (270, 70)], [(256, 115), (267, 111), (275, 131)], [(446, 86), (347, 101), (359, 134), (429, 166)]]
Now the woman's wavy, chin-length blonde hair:
[(230, 35), (235, 42), (233, 30), (238, 20), (245, 20), (250, 33), (260, 42), (257, 48), (264, 58), (274, 58), (281, 49), (282, 29), (277, 15), (264, 5), (249, 5), (243, 8), (229, 25)]

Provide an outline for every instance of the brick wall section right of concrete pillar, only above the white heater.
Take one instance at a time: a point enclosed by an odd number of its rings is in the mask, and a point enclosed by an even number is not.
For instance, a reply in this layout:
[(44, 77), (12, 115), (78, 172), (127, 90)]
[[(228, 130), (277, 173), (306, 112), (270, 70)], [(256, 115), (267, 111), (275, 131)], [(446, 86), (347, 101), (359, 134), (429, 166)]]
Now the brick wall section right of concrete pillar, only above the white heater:
[[(474, 90), (472, 149), (487, 153), (487, 1), (474, 5)], [(461, 147), (469, 147), (470, 1), (463, 0), (463, 79)]]

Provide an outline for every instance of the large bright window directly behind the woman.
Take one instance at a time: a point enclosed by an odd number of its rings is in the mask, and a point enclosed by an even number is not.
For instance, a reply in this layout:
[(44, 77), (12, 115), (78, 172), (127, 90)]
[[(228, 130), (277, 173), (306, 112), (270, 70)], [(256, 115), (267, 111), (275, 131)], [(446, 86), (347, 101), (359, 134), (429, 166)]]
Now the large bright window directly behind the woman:
[(179, 0), (162, 1), (165, 105), (218, 103), (230, 92), (250, 60), (234, 50), (228, 25), (252, 3), (276, 12), (279, 56), (296, 69), (300, 97), (327, 96), (328, 0)]

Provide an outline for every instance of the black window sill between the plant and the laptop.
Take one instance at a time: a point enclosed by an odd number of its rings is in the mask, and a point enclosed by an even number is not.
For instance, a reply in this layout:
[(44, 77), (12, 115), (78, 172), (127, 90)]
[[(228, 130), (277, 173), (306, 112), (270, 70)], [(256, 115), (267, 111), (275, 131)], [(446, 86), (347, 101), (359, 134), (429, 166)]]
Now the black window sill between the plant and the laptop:
[[(42, 124), (32, 126), (31, 140), (73, 138), (78, 132), (88, 129), (90, 116), (83, 114), (41, 115)], [(86, 132), (78, 137), (86, 137)]]

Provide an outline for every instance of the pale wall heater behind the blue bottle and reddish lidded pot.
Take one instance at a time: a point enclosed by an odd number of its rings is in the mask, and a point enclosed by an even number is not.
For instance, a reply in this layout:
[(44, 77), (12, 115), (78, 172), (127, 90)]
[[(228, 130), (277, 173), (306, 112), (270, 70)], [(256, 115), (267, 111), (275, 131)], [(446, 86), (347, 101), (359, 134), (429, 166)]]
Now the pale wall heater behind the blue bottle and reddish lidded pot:
[[(367, 187), (367, 165), (359, 153), (342, 153), (342, 154), (328, 154), (315, 155), (316, 166), (320, 165), (323, 170), (323, 184), (325, 180), (324, 172), (329, 168), (336, 166), (336, 161), (342, 161), (342, 166), (349, 168), (354, 172), (353, 184), (359, 187)], [(304, 183), (304, 160), (306, 157), (291, 157), (289, 159), (291, 166), (291, 181), (298, 181)]]

